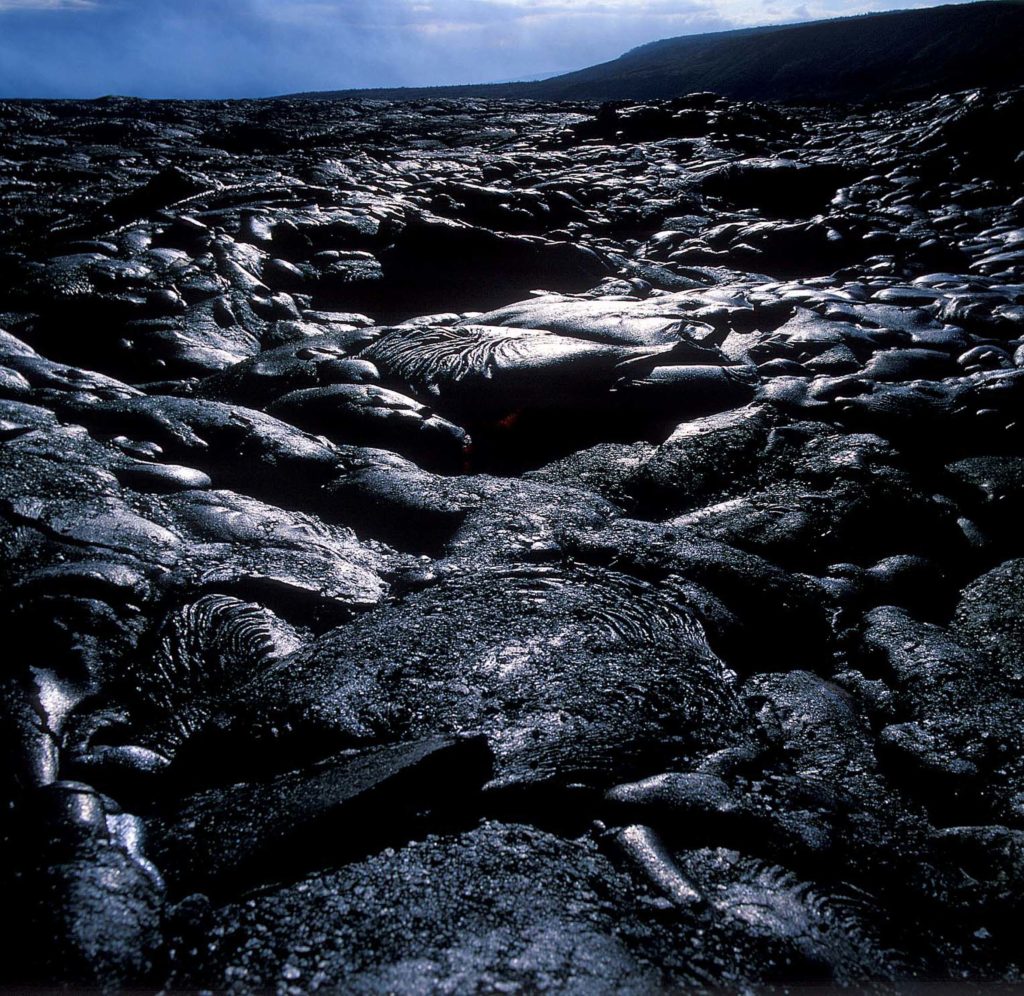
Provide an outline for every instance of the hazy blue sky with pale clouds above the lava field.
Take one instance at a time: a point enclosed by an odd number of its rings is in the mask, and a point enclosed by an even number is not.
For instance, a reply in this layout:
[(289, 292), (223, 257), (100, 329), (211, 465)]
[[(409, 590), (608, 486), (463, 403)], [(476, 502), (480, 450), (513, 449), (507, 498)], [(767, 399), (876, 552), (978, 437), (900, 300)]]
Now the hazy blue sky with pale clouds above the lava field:
[(487, 83), (582, 69), (658, 38), (938, 2), (0, 0), (0, 97)]

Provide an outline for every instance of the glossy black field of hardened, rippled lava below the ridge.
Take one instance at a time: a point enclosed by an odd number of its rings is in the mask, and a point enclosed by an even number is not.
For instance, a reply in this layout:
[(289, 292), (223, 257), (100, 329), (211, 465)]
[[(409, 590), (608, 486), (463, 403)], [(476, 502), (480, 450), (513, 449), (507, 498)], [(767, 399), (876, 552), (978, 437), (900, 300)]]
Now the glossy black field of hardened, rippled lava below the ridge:
[(1020, 979), (1024, 91), (0, 133), (8, 984)]

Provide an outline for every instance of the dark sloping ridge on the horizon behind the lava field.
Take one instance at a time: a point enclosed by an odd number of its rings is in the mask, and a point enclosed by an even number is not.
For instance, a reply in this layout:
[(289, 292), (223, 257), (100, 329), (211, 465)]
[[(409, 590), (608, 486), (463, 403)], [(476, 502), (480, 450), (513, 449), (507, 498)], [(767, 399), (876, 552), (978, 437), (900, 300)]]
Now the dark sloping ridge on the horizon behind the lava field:
[(532, 83), (294, 96), (635, 100), (714, 90), (741, 99), (869, 101), (1024, 83), (1022, 52), (1024, 0), (982, 0), (668, 38)]

